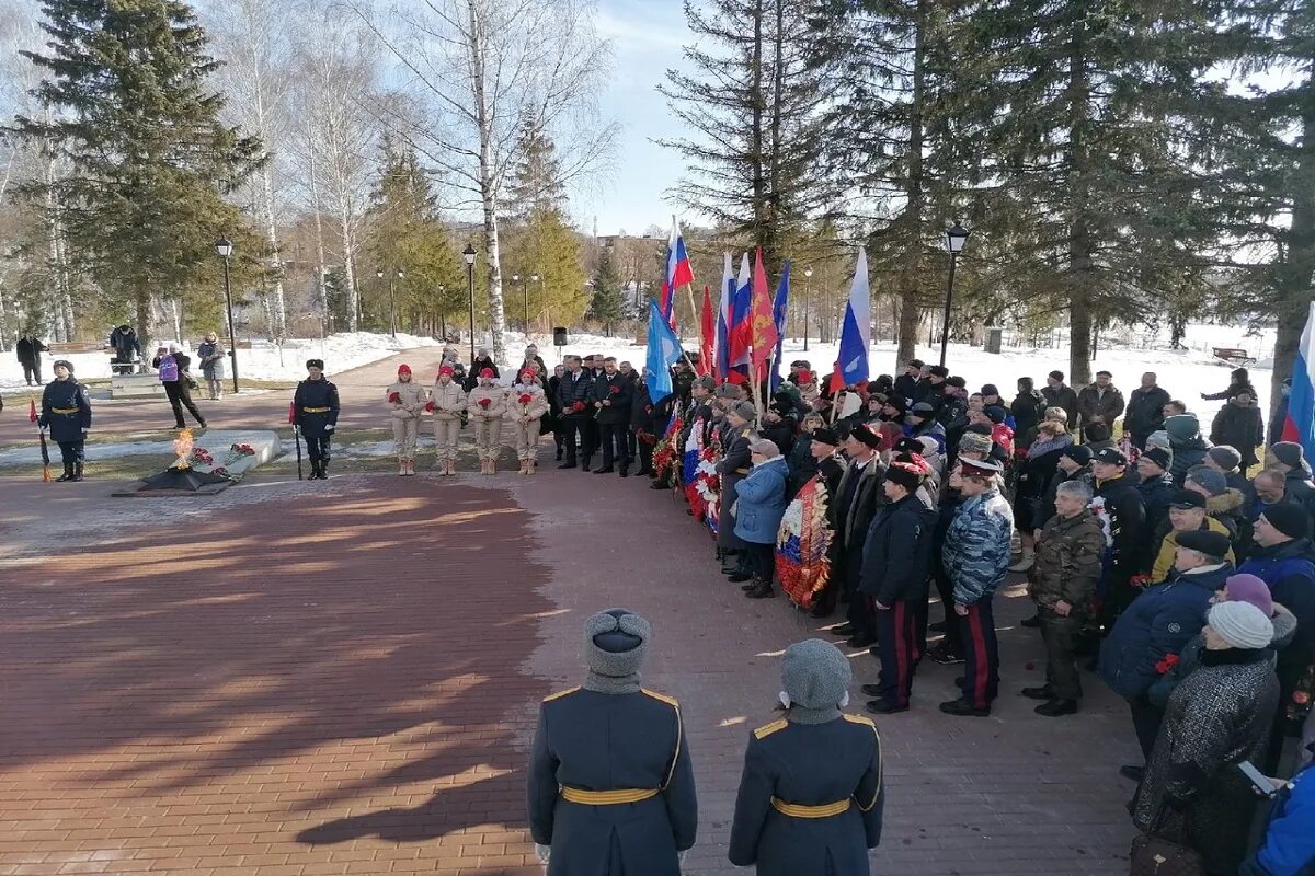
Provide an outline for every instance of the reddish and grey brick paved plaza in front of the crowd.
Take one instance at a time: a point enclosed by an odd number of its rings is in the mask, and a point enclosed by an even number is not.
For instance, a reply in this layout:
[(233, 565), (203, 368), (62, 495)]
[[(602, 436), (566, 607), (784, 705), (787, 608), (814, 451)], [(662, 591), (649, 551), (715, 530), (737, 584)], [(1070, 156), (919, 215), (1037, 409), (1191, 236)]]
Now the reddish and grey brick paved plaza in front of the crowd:
[[(345, 422), (379, 419), (402, 359), (335, 377)], [(150, 405), (107, 406), (99, 429), (167, 426)], [(285, 394), (237, 405), (214, 426), (283, 428)], [(14, 407), (0, 443), (25, 433)], [(540, 873), (522, 771), (538, 701), (577, 683), (580, 625), (615, 604), (652, 620), (646, 684), (684, 707), (686, 873), (734, 871), (746, 737), (773, 717), (781, 650), (817, 624), (743, 599), (669, 495), (551, 465), (258, 475), (174, 500), (117, 486), (0, 478), (0, 875)], [(997, 598), (990, 718), (940, 714), (959, 667), (923, 665), (913, 711), (878, 721), (874, 873), (1127, 871), (1126, 708), (1088, 675), (1082, 714), (1035, 716), (1016, 696), (1041, 668), (1027, 609), (1020, 587)], [(867, 653), (853, 665), (874, 680)]]

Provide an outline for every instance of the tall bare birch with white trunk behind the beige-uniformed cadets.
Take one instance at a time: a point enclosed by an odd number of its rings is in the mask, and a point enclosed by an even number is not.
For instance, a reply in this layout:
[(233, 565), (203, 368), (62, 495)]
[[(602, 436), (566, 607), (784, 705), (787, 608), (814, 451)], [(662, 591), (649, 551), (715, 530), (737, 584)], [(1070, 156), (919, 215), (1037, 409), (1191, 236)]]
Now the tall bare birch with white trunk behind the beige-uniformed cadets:
[(454, 190), (456, 209), (477, 208), (484, 238), (493, 355), (505, 360), (498, 205), (517, 159), (522, 125), (534, 120), (558, 143), (562, 181), (597, 172), (615, 139), (600, 123), (594, 96), (610, 47), (593, 28), (586, 0), (405, 0), (376, 20), (354, 8), (405, 76), (416, 113), (391, 123)]

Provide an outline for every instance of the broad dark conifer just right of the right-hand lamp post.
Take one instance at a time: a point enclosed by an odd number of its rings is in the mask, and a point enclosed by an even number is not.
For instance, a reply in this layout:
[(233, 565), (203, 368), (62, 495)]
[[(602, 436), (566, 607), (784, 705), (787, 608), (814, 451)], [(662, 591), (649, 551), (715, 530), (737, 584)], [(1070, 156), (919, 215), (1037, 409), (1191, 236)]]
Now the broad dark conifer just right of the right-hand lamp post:
[(1057, 280), (1074, 383), (1098, 319), (1153, 310), (1194, 261), (1195, 183), (1170, 114), (1191, 85), (1177, 54), (1190, 5), (982, 0), (956, 29), (972, 218), (1011, 238), (1014, 272)]

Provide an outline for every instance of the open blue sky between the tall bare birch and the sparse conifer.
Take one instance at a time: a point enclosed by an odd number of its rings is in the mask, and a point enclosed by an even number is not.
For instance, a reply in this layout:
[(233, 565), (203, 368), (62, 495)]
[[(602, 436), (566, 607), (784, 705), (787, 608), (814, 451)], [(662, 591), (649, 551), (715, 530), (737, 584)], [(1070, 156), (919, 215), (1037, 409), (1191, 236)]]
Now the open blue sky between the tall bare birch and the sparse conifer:
[[(681, 67), (688, 41), (679, 0), (598, 0), (598, 35), (611, 41), (610, 87), (600, 96), (604, 118), (622, 125), (610, 180), (596, 194), (577, 197), (573, 213), (581, 230), (598, 234), (642, 234), (650, 225), (665, 229), (672, 205), (663, 192), (680, 179), (682, 159), (652, 141), (672, 134), (667, 101), (655, 89), (671, 67)], [(682, 127), (680, 129), (684, 130)], [(694, 219), (696, 217), (690, 217)]]

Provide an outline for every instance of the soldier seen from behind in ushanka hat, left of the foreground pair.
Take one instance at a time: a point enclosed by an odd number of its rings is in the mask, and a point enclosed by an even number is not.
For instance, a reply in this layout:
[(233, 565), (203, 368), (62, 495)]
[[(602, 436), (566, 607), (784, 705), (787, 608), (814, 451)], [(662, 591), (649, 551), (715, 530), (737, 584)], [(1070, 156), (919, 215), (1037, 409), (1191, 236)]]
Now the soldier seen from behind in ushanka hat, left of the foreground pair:
[(698, 805), (680, 704), (639, 687), (652, 628), (623, 608), (584, 629), (585, 682), (539, 707), (529, 821), (548, 876), (680, 876)]

